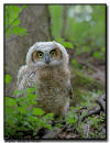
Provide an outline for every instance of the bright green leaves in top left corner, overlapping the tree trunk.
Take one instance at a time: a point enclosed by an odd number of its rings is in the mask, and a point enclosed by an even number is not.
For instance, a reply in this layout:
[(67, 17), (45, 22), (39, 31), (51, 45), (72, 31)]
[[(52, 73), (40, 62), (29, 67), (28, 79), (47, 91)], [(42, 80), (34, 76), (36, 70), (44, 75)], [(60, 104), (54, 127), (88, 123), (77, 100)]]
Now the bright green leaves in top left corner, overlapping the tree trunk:
[(20, 19), (19, 15), (26, 6), (12, 6), (9, 4), (4, 7), (4, 29), (6, 29), (6, 37), (10, 35), (26, 35), (26, 29), (20, 28)]

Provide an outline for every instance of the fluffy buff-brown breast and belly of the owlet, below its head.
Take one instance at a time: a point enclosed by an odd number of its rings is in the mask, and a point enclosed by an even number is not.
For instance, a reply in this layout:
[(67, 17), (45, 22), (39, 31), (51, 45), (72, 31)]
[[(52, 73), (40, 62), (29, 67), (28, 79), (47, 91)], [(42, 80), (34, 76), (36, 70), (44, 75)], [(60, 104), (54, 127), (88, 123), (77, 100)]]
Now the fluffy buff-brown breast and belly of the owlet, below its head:
[(59, 112), (68, 102), (68, 85), (70, 73), (66, 68), (38, 72), (37, 94), (41, 108), (47, 112)]

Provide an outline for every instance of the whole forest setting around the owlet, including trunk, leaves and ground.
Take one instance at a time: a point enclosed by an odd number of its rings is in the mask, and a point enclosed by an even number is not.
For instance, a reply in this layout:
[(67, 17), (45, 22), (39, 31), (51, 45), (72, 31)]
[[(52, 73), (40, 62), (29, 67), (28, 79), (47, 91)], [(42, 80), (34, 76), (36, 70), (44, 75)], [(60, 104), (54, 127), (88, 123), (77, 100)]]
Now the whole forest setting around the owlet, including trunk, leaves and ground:
[[(106, 4), (4, 6), (6, 139), (107, 138), (106, 10)], [(54, 120), (53, 114), (45, 117), (35, 108), (29, 118), (31, 111), (16, 106), (24, 99), (12, 98), (18, 92), (14, 91), (16, 75), (25, 64), (28, 50), (40, 41), (59, 42), (70, 56), (74, 100), (66, 124), (53, 127), (48, 121)], [(32, 90), (26, 96), (30, 105), (35, 103)]]

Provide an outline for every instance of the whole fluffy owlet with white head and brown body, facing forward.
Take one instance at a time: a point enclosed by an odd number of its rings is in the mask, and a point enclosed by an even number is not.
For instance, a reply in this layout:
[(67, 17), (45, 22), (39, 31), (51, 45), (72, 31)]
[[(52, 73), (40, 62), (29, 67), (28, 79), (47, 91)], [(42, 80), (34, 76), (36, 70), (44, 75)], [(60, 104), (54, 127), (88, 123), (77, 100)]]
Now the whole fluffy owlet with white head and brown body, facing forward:
[(72, 95), (68, 54), (56, 42), (36, 42), (30, 47), (26, 64), (18, 74), (18, 89), (23, 90), (36, 84), (38, 107), (46, 113), (66, 116)]

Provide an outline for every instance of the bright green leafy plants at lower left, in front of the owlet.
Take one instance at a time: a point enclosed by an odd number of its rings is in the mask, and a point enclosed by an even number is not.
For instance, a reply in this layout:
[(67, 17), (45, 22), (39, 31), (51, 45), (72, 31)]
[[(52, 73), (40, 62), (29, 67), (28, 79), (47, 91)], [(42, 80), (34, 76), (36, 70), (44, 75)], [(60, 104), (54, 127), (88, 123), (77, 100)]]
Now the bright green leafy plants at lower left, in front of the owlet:
[[(6, 97), (6, 139), (21, 139), (30, 131), (32, 136), (35, 136), (42, 128), (52, 130), (50, 121), (53, 120), (53, 113), (44, 114), (44, 111), (36, 107), (37, 95), (33, 91), (35, 88), (28, 88), (18, 98)], [(15, 94), (20, 92), (14, 91)]]

